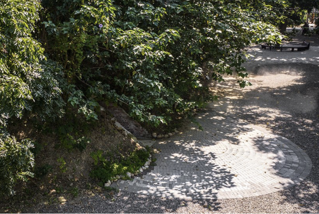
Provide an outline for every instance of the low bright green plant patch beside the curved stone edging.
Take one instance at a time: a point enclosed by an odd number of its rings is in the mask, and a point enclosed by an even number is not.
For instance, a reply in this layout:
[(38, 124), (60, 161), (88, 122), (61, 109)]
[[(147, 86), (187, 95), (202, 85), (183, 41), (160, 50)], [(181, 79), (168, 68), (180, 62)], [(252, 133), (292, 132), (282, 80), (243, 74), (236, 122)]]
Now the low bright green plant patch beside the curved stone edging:
[(108, 160), (101, 150), (91, 154), (95, 167), (90, 172), (92, 178), (104, 183), (116, 175), (125, 175), (126, 172), (137, 171), (145, 164), (149, 157), (149, 149), (136, 149), (128, 157), (120, 160)]

